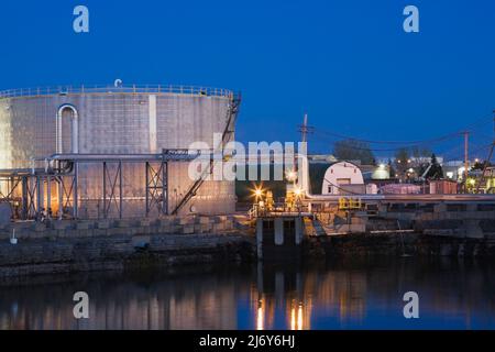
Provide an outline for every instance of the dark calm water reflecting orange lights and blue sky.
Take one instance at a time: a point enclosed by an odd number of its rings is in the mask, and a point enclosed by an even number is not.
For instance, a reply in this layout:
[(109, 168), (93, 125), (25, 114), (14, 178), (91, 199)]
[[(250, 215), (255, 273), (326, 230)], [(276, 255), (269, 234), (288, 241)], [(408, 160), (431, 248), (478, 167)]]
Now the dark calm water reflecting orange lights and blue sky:
[[(1, 284), (0, 329), (495, 329), (493, 264), (405, 258), (36, 277)], [(89, 319), (73, 316), (78, 290), (89, 295)], [(409, 290), (419, 319), (403, 316)]]

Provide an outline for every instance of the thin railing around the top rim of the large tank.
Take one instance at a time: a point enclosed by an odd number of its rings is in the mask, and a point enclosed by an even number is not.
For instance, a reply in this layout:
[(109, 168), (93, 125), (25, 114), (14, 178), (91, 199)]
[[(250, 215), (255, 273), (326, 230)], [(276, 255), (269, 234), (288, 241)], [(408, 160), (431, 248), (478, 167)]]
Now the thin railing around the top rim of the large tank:
[(1, 98), (37, 97), (37, 96), (68, 96), (84, 94), (175, 94), (186, 96), (226, 97), (234, 98), (232, 90), (200, 86), (174, 85), (122, 85), (122, 86), (57, 86), (38, 88), (20, 88), (0, 91)]

